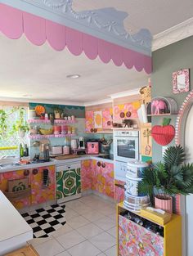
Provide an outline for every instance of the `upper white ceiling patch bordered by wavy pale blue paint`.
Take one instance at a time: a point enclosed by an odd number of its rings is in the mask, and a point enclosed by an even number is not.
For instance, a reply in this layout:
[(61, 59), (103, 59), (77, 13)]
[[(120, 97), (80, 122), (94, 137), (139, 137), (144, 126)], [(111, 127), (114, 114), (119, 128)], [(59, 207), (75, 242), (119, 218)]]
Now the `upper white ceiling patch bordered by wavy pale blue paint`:
[(114, 7), (128, 12), (124, 20), (125, 29), (137, 32), (149, 29), (151, 34), (159, 34), (193, 16), (192, 0), (74, 0), (74, 11), (94, 10)]

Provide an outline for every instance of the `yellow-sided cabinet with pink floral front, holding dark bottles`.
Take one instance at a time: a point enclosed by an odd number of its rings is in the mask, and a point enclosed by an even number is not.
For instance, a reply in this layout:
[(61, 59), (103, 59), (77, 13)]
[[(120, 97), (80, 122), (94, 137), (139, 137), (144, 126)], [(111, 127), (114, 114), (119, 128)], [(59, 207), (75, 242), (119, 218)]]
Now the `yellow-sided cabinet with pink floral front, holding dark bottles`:
[[(129, 211), (118, 204), (117, 209), (117, 237), (119, 256), (182, 256), (182, 218), (173, 214), (170, 222), (156, 224), (150, 219), (143, 218), (140, 213), (135, 213), (141, 219), (143, 226), (133, 219), (125, 216)], [(130, 213), (131, 214), (131, 213)]]

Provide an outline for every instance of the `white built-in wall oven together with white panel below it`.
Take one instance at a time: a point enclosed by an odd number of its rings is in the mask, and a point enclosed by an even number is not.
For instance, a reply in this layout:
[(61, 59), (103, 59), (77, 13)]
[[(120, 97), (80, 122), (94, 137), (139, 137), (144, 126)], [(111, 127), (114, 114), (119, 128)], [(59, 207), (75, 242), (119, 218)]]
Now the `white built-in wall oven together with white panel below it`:
[(114, 130), (114, 179), (126, 182), (128, 162), (139, 159), (139, 131)]

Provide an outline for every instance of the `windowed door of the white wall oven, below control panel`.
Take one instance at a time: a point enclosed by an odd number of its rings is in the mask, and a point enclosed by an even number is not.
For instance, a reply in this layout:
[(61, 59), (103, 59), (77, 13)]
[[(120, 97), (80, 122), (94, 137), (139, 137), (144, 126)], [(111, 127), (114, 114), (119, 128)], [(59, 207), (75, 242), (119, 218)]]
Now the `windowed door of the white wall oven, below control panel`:
[(114, 159), (122, 162), (139, 159), (139, 137), (114, 137)]

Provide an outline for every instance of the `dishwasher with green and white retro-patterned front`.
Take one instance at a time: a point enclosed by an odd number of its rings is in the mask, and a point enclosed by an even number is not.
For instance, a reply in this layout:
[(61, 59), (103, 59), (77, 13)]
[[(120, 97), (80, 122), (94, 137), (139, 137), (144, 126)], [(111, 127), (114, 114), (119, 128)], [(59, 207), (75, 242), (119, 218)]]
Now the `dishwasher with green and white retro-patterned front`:
[(56, 164), (57, 204), (81, 197), (80, 168), (78, 161)]

